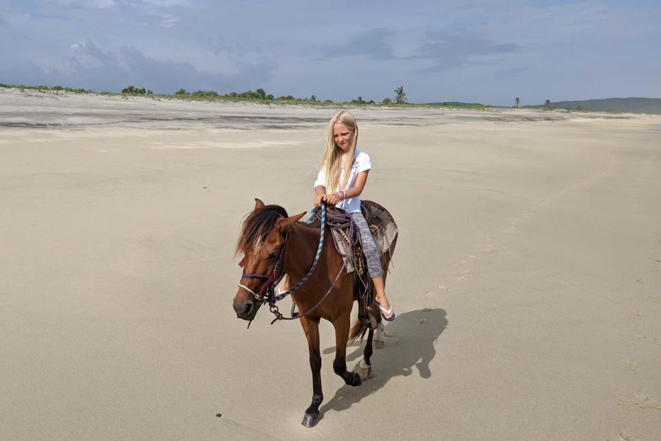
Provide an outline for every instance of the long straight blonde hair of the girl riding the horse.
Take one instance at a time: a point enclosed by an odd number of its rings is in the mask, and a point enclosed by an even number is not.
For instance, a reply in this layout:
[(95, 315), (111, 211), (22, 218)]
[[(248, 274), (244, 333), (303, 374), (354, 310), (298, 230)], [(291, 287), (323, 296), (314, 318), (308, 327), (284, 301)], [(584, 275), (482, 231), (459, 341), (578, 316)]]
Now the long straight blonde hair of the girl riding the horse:
[[(344, 154), (347, 155), (346, 160), (342, 161), (343, 152), (335, 145), (333, 136), (333, 129), (336, 123), (340, 123), (349, 127), (354, 131), (354, 139), (352, 140), (349, 150)], [(349, 175), (351, 174), (351, 167), (354, 164), (354, 154), (356, 154), (356, 143), (358, 142), (358, 124), (354, 115), (344, 110), (338, 112), (332, 117), (328, 123), (328, 140), (326, 141), (326, 148), (324, 150), (323, 158), (319, 164), (319, 169), (323, 170), (326, 175), (326, 192), (335, 192), (338, 189), (343, 189), (349, 182)], [(344, 170), (344, 176), (340, 183), (340, 173)]]

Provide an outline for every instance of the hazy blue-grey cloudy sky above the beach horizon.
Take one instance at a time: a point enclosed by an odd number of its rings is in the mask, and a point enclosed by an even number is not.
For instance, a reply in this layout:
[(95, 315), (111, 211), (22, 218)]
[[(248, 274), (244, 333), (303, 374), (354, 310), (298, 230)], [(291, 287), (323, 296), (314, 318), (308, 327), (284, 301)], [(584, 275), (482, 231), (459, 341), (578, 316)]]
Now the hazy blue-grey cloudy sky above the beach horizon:
[(411, 103), (661, 98), (661, 1), (0, 0), (0, 83)]

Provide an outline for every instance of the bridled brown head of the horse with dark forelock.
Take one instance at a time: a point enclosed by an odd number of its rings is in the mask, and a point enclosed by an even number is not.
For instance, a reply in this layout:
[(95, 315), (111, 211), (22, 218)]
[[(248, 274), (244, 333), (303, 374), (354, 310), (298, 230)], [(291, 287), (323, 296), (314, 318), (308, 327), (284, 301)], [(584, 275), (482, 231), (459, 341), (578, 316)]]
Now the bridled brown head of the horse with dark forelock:
[(236, 255), (243, 254), (243, 275), (233, 303), (238, 318), (252, 320), (268, 300), (267, 289), (283, 276), (286, 234), (303, 214), (289, 217), (283, 207), (255, 199), (236, 243)]

